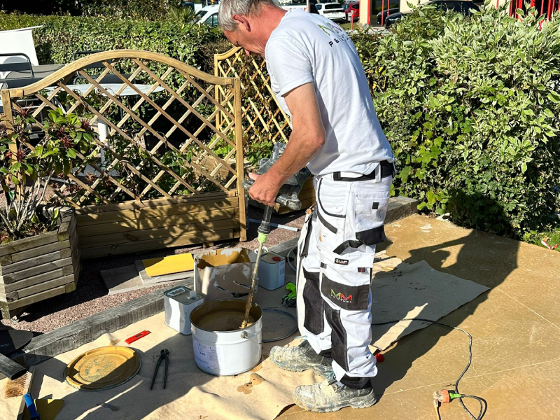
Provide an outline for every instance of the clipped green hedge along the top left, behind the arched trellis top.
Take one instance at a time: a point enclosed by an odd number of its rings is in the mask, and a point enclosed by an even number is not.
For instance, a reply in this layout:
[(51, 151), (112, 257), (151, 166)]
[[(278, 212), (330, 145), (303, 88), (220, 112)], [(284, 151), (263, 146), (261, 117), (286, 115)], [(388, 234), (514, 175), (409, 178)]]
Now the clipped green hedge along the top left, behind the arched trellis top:
[(228, 50), (220, 31), (177, 20), (76, 18), (0, 13), (0, 30), (43, 25), (33, 36), (38, 62), (71, 62), (80, 50), (148, 50), (214, 74), (214, 53)]

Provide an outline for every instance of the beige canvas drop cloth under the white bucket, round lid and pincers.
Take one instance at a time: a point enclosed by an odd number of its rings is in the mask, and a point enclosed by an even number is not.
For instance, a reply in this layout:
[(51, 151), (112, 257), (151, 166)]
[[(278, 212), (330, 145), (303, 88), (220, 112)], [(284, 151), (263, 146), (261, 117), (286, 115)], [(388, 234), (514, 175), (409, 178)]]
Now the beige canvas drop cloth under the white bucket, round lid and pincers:
[[(37, 365), (31, 386), (33, 395), (64, 400), (57, 420), (269, 420), (293, 404), (296, 385), (322, 380), (313, 372), (284, 372), (269, 360), (237, 377), (211, 376), (195, 365), (192, 337), (176, 333), (164, 321), (163, 313), (151, 316)], [(64, 382), (64, 367), (73, 358), (99, 346), (127, 346), (124, 340), (142, 330), (151, 334), (130, 345), (142, 359), (136, 377), (117, 388), (96, 392), (78, 391)], [(265, 345), (263, 353), (267, 355), (272, 345)], [(170, 352), (167, 389), (163, 389), (162, 363), (151, 391), (151, 378), (161, 349)], [(97, 405), (103, 402), (118, 407), (118, 411)]]

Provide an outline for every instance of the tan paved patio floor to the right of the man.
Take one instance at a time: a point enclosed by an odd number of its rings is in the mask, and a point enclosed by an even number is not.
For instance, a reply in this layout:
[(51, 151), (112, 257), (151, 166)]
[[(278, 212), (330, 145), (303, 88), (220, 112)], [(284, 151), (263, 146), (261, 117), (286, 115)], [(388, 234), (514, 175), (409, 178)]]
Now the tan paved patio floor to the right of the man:
[[(538, 246), (460, 228), (425, 216), (386, 226), (387, 255), (492, 288), (440, 320), (471, 333), (472, 366), (459, 390), (488, 401), (485, 420), (558, 419), (560, 255)], [(293, 406), (279, 419), (435, 419), (432, 393), (451, 389), (468, 360), (468, 338), (431, 325), (384, 351), (374, 379), (379, 402), (368, 409), (312, 414)], [(552, 392), (551, 392), (552, 391)], [(545, 399), (539, 395), (547, 395)], [(477, 412), (477, 402), (468, 407)], [(442, 420), (468, 420), (458, 402)]]

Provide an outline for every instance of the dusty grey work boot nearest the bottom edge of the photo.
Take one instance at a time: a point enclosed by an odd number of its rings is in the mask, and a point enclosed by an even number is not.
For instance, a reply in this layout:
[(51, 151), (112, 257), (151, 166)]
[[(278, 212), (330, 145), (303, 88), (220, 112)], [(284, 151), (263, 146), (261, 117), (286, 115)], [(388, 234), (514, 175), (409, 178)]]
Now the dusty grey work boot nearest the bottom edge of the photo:
[(344, 407), (371, 407), (377, 402), (371, 385), (363, 389), (349, 388), (334, 375), (320, 384), (297, 386), (293, 400), (302, 409), (317, 413), (335, 412)]

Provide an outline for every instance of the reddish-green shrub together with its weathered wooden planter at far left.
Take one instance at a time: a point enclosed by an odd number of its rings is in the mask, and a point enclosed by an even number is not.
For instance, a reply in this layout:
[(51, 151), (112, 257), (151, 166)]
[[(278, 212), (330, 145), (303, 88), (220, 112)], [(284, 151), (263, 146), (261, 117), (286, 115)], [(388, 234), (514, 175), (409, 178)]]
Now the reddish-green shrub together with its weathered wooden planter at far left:
[(31, 144), (40, 127), (23, 108), (8, 132), (0, 132), (0, 309), (17, 316), (29, 304), (76, 288), (78, 238), (73, 211), (45, 211), (53, 177), (71, 174), (76, 162), (90, 162), (96, 135), (87, 120), (49, 111), (43, 139)]

